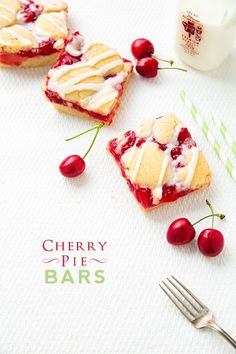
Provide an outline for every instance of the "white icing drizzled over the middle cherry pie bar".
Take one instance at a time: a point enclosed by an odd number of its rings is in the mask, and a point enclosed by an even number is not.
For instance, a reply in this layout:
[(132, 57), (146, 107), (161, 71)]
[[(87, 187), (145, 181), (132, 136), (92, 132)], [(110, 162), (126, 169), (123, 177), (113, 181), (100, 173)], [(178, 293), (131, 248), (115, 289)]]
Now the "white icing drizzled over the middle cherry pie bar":
[[(81, 54), (86, 54), (86, 51), (93, 44), (98, 43), (91, 41), (85, 43), (81, 35), (74, 35), (72, 42), (67, 44), (66, 51), (68, 53), (71, 53), (71, 55), (78, 55), (79, 53), (80, 56)], [(123, 64), (123, 61), (121, 59), (112, 60), (111, 62), (106, 63), (102, 67), (96, 69), (95, 65), (97, 63), (99, 63), (101, 60), (112, 58), (113, 56), (117, 56), (117, 52), (114, 49), (110, 49), (95, 55), (89, 60), (86, 60), (85, 55), (85, 58), (82, 58), (81, 61), (75, 64), (62, 65), (61, 67), (57, 68), (57, 70), (50, 71), (48, 81), (49, 90), (57, 92), (62, 98), (65, 98), (67, 94), (74, 91), (94, 91), (93, 94), (82, 99), (80, 101), (80, 104), (83, 108), (89, 110), (98, 109), (106, 103), (114, 100), (118, 96), (118, 85), (122, 84), (122, 82), (127, 76), (127, 73), (121, 71), (114, 77), (111, 77), (107, 80), (103, 80), (101, 83), (81, 83), (81, 81), (94, 76), (99, 76), (103, 79), (103, 76), (107, 72)], [(76, 70), (80, 68), (86, 68), (88, 71), (83, 72), (81, 74), (76, 74), (74, 77), (67, 80), (66, 82), (59, 82), (60, 78), (63, 77), (63, 75), (67, 74), (71, 70)]]

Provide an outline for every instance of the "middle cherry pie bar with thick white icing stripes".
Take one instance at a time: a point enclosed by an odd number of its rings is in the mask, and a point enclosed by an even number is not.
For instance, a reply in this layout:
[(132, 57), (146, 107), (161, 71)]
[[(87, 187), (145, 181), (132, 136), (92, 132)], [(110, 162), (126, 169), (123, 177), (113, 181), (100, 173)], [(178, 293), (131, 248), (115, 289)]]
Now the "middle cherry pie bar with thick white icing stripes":
[(56, 109), (109, 125), (132, 70), (131, 62), (114, 49), (75, 32), (43, 90)]

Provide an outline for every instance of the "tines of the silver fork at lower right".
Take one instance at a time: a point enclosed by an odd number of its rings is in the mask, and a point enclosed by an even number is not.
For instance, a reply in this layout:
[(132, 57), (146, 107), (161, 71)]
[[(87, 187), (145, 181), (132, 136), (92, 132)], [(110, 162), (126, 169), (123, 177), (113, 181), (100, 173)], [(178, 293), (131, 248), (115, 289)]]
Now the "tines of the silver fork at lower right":
[(198, 318), (199, 314), (207, 308), (173, 275), (165, 281), (162, 281), (159, 285), (189, 321)]

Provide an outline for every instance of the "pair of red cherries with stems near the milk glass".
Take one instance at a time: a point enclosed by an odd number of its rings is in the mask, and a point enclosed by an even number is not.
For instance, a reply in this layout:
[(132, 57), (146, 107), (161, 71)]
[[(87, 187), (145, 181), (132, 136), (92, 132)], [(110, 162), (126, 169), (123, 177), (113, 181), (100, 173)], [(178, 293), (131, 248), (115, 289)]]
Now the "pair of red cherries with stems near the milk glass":
[[(172, 65), (174, 64), (173, 60), (165, 60), (160, 59), (154, 55), (155, 49), (149, 39), (146, 38), (138, 38), (135, 39), (131, 44), (131, 52), (133, 56), (138, 60), (136, 64), (136, 71), (139, 75), (152, 78), (158, 75), (159, 70), (166, 69), (174, 69), (187, 71), (182, 68), (174, 68)], [(159, 61), (163, 61), (170, 64), (170, 67), (160, 67)]]

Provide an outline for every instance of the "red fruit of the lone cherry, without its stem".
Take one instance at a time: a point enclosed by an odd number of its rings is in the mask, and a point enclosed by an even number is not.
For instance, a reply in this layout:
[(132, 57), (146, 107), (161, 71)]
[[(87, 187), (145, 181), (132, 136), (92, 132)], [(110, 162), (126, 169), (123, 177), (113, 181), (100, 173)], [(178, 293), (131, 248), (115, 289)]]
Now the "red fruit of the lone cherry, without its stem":
[(64, 177), (77, 177), (85, 170), (85, 161), (78, 155), (66, 157), (60, 164), (59, 169)]

